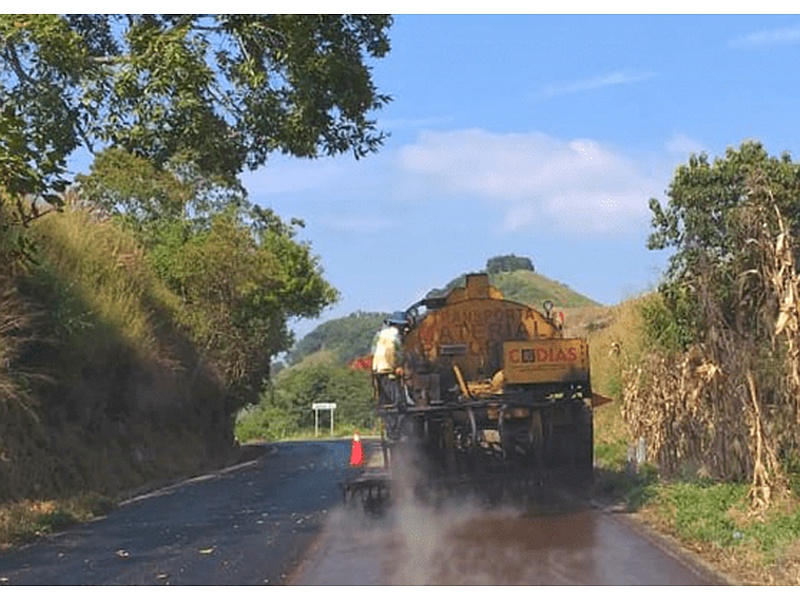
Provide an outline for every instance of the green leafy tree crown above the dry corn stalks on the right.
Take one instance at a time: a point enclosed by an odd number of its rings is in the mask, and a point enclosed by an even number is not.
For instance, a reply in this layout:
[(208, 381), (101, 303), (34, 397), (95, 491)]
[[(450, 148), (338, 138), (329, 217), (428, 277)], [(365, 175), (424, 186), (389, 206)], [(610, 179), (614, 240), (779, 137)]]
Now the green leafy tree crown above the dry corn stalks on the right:
[(792, 234), (800, 233), (800, 164), (789, 154), (769, 156), (758, 142), (729, 148), (713, 162), (705, 154), (692, 155), (676, 170), (667, 205), (650, 200), (653, 232), (648, 247), (674, 249), (660, 288), (669, 314), (660, 309), (648, 313), (651, 333), (659, 341), (685, 347), (703, 340), (707, 324), (701, 293), (714, 298), (721, 318), (733, 325), (734, 287), (753, 268), (746, 264), (751, 248), (742, 237), (748, 226), (743, 209), (756, 180), (768, 182)]

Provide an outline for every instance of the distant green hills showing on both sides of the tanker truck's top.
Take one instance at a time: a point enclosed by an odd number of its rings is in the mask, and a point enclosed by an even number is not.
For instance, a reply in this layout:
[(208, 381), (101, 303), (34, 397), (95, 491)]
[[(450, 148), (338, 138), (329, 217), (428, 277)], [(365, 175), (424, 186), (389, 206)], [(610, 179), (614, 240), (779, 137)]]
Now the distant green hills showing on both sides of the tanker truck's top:
[[(541, 309), (545, 300), (552, 300), (561, 309), (599, 307), (591, 298), (579, 294), (569, 286), (536, 273), (530, 258), (509, 254), (495, 256), (486, 261), (483, 272), (489, 282), (503, 296)], [(466, 273), (459, 275), (442, 288), (427, 295), (439, 296), (465, 284)], [(398, 306), (398, 309), (406, 308)], [(353, 359), (369, 354), (372, 338), (387, 315), (381, 312), (358, 311), (347, 317), (331, 319), (303, 337), (289, 354), (289, 364), (297, 364), (313, 355), (324, 354), (325, 360), (347, 364)]]

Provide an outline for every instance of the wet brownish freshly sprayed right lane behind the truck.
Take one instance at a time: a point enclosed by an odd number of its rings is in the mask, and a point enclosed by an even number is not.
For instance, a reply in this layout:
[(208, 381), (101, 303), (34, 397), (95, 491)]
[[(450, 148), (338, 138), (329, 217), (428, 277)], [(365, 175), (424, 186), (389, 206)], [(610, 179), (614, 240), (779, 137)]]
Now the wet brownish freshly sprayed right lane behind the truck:
[(334, 511), (292, 585), (707, 586), (723, 580), (625, 516), (419, 505), (381, 519)]

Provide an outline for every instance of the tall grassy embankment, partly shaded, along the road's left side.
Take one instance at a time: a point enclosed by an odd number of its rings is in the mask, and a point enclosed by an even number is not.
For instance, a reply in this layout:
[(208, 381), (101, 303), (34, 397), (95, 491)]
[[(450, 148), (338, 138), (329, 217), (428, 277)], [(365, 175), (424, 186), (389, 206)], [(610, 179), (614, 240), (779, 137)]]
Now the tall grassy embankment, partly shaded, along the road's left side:
[(0, 547), (224, 461), (221, 387), (133, 239), (79, 209), (0, 281)]

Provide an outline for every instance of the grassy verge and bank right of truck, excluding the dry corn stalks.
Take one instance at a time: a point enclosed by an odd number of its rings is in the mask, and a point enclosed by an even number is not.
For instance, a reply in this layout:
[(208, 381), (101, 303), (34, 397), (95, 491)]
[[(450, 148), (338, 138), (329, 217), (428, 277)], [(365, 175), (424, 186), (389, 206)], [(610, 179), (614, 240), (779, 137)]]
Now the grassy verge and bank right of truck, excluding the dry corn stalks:
[[(595, 412), (597, 491), (623, 502), (644, 523), (741, 584), (800, 585), (800, 482), (766, 514), (749, 513), (748, 485), (697, 476), (664, 480), (628, 464), (632, 440), (620, 406), (622, 369), (645, 352), (638, 306), (625, 302), (602, 327), (589, 327), (595, 389), (616, 402)], [(604, 318), (600, 315), (598, 318)]]

